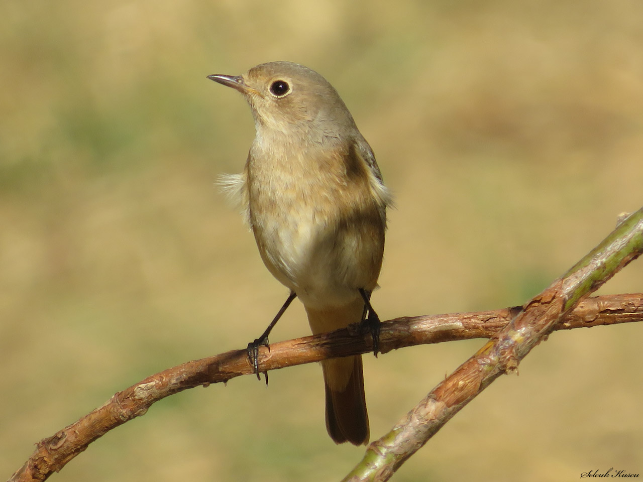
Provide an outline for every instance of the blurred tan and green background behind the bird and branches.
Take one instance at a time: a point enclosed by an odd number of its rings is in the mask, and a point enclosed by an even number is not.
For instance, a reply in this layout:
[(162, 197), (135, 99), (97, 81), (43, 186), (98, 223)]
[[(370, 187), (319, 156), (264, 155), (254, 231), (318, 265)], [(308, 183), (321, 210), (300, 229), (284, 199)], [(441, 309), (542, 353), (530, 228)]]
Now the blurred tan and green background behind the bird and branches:
[[(287, 294), (214, 185), (254, 127), (206, 80), (293, 60), (340, 92), (390, 211), (383, 319), (521, 305), (643, 204), (643, 4), (0, 4), (0, 478), (113, 393), (242, 348)], [(632, 263), (601, 289), (643, 291)], [(300, 303), (271, 340), (309, 333)], [(643, 326), (553, 334), (396, 481), (643, 470)], [(484, 341), (365, 357), (372, 438)], [(52, 480), (330, 481), (316, 365), (179, 393)]]

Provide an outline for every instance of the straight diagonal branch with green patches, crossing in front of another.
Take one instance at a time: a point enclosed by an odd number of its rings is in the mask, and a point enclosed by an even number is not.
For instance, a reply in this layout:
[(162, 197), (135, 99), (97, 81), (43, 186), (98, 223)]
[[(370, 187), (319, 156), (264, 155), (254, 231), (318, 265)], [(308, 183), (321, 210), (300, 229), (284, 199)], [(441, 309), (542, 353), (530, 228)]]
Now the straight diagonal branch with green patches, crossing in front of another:
[(491, 382), (518, 363), (565, 319), (579, 300), (597, 290), (643, 253), (643, 208), (633, 213), (508, 323), (449, 377), (372, 442), (347, 481), (386, 481), (410, 456)]

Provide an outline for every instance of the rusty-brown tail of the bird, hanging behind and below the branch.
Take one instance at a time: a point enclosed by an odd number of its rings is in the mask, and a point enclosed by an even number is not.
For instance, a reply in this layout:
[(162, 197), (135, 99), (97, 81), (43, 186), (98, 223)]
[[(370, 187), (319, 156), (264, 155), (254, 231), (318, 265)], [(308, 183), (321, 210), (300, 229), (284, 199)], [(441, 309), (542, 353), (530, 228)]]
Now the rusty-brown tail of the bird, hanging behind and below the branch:
[[(341, 308), (306, 308), (314, 334), (358, 323), (363, 310), (364, 301), (360, 298)], [(321, 368), (326, 391), (326, 428), (332, 440), (353, 445), (368, 443), (368, 413), (361, 355), (325, 360), (321, 362)]]

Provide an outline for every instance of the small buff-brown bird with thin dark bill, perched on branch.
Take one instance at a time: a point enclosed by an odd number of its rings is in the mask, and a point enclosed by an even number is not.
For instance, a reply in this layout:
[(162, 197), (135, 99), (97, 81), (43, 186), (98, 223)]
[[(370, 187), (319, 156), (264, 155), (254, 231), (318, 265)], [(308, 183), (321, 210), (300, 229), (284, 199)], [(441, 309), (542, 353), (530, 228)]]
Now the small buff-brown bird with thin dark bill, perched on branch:
[[(373, 152), (325, 78), (292, 62), (269, 62), (244, 75), (208, 78), (236, 89), (257, 130), (242, 174), (227, 175), (261, 258), (299, 298), (314, 334), (377, 315), (370, 293), (384, 252), (391, 196)], [(379, 320), (378, 320), (379, 321)], [(374, 336), (375, 338), (375, 336)], [(376, 348), (377, 350), (377, 348)], [(250, 352), (249, 352), (250, 353)], [(326, 426), (336, 443), (368, 443), (361, 355), (321, 362)]]

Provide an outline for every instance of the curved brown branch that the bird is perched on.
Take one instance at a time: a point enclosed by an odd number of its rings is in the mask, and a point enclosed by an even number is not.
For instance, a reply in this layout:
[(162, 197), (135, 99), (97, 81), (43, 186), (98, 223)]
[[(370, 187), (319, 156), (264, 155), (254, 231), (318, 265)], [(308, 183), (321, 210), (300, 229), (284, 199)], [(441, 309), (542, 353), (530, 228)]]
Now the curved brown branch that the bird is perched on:
[[(382, 324), (380, 348), (389, 352), (404, 346), (472, 338), (489, 338), (520, 312), (497, 311), (401, 317)], [(613, 325), (643, 321), (643, 294), (619, 294), (586, 299), (556, 329)], [(367, 353), (369, 335), (359, 337), (354, 328), (307, 336), (271, 345), (260, 351), (262, 370), (321, 361), (331, 357)], [(191, 361), (152, 375), (116, 393), (103, 406), (38, 443), (37, 449), (10, 481), (42, 481), (58, 472), (89, 443), (136, 416), (161, 398), (196, 386), (226, 382), (249, 375), (252, 368), (245, 350)]]

